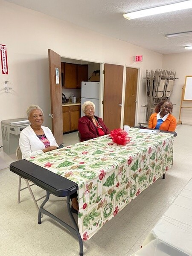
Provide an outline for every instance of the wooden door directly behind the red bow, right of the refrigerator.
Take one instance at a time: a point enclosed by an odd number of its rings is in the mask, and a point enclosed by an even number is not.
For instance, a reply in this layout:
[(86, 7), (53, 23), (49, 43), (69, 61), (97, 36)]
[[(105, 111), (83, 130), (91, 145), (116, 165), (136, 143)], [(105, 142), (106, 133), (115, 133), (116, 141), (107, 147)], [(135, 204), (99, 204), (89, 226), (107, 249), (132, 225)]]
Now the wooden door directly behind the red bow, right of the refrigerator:
[(121, 125), (122, 82), (123, 66), (105, 64), (103, 121), (110, 130)]

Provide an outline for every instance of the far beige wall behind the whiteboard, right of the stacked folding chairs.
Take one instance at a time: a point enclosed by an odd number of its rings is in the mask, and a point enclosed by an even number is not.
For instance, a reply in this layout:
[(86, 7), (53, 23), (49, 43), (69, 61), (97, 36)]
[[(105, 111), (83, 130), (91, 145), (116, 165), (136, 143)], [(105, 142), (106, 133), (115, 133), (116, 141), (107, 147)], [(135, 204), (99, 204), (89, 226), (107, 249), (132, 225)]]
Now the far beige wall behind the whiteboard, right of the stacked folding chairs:
[[(192, 76), (192, 52), (163, 55), (163, 69), (175, 70), (176, 78), (171, 101), (173, 104), (173, 114), (179, 119), (182, 87), (185, 83), (185, 76)], [(182, 106), (192, 107), (192, 102), (182, 102)], [(183, 108), (181, 118), (183, 124), (192, 125), (192, 108)]]

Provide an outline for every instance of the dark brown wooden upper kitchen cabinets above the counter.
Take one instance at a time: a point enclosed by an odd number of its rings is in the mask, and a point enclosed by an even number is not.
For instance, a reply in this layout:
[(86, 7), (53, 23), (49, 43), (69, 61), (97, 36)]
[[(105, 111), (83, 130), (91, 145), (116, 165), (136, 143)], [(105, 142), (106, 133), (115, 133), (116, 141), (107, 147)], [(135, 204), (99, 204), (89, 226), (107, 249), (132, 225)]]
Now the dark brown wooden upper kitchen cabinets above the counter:
[(81, 81), (88, 80), (88, 65), (61, 63), (62, 86), (81, 88)]

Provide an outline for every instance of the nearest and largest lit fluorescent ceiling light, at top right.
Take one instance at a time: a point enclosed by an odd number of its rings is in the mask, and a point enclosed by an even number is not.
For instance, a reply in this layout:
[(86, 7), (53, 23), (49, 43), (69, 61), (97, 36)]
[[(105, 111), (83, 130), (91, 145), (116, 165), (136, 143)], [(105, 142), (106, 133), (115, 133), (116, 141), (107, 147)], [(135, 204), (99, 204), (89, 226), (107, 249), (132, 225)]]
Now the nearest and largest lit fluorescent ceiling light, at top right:
[(128, 20), (165, 13), (165, 12), (174, 12), (178, 10), (184, 10), (192, 8), (192, 0), (187, 0), (183, 2), (170, 3), (162, 6), (154, 6), (148, 9), (138, 10), (134, 12), (127, 12), (123, 16)]

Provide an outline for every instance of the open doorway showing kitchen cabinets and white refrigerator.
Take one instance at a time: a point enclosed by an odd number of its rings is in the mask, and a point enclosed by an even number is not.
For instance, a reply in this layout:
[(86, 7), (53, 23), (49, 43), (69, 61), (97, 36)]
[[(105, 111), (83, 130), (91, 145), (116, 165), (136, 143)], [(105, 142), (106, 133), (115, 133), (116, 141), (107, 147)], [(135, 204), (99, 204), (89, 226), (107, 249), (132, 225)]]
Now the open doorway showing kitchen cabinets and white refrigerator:
[(95, 103), (96, 115), (99, 116), (99, 71), (100, 63), (61, 57), (64, 134), (78, 130), (79, 118), (84, 115), (81, 105), (86, 100)]

